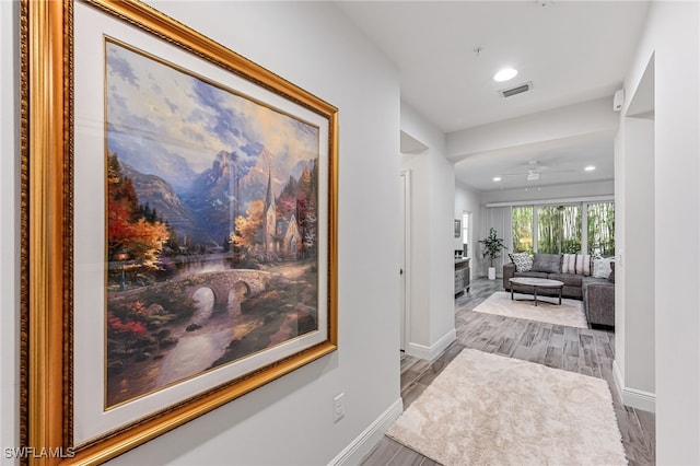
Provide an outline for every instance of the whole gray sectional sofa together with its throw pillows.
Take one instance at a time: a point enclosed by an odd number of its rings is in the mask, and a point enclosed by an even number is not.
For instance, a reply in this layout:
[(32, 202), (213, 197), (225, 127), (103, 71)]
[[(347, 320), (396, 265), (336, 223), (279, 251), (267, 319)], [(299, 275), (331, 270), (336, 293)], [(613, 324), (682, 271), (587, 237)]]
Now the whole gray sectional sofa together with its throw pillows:
[[(511, 291), (509, 279), (535, 277), (564, 283), (562, 296), (583, 301), (588, 325), (615, 326), (615, 261), (586, 255), (510, 254), (513, 261), (503, 266), (503, 288)], [(514, 286), (514, 291), (529, 292), (527, 287)], [(548, 294), (538, 290), (538, 294)], [(559, 291), (552, 291), (559, 294)]]

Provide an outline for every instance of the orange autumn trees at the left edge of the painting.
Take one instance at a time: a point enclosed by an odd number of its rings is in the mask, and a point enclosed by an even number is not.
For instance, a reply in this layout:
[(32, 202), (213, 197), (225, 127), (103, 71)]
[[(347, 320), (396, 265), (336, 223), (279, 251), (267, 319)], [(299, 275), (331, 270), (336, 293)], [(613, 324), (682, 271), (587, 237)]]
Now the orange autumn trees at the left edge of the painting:
[(107, 154), (107, 254), (126, 253), (129, 260), (156, 269), (159, 254), (170, 238), (167, 225), (156, 212), (140, 206), (129, 177), (124, 176), (116, 154)]

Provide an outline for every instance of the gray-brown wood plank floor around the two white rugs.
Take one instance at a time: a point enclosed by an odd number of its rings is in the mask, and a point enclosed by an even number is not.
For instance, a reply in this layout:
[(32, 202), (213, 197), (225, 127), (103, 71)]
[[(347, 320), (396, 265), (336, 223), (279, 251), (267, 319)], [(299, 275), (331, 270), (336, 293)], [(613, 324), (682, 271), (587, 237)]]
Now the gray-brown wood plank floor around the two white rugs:
[[(611, 387), (614, 408), (629, 464), (655, 464), (654, 415), (625, 406), (614, 388), (615, 334), (471, 311), (494, 291), (502, 290), (499, 280), (475, 280), (470, 291), (457, 296), (455, 301), (456, 341), (433, 361), (401, 357), (404, 408), (425, 389), (459, 351), (474, 348), (606, 380)], [(362, 464), (430, 466), (438, 463), (385, 436)]]

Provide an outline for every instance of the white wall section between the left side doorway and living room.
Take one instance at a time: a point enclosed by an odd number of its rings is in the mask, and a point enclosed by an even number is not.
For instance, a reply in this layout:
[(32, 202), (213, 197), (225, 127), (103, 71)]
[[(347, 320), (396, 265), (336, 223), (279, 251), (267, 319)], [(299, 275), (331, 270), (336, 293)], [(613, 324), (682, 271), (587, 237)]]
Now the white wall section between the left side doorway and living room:
[[(454, 165), (444, 135), (401, 102), (401, 131), (428, 149), (401, 155), (411, 171), (411, 329), (409, 354), (433, 358), (455, 339)], [(425, 294), (427, 293), (427, 294)]]

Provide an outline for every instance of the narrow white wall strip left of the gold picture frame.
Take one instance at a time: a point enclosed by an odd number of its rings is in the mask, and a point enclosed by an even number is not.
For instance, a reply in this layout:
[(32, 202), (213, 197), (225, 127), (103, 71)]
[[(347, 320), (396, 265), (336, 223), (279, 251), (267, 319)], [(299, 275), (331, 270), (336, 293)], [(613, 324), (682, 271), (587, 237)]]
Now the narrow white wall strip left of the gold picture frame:
[[(19, 444), (19, 30), (18, 4), (0, 1), (0, 445)], [(4, 455), (2, 455), (4, 457)], [(2, 464), (9, 459), (0, 459)]]

